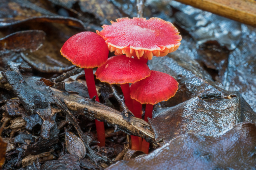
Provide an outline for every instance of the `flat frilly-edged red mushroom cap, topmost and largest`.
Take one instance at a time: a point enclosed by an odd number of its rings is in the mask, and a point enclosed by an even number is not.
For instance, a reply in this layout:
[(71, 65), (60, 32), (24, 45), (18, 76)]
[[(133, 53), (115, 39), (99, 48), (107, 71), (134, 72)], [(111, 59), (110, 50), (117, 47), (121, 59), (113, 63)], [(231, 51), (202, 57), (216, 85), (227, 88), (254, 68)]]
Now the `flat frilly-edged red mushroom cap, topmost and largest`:
[(115, 51), (115, 55), (151, 60), (153, 55), (163, 57), (176, 51), (182, 39), (172, 23), (160, 18), (119, 18), (111, 23), (96, 32), (105, 39), (108, 49)]

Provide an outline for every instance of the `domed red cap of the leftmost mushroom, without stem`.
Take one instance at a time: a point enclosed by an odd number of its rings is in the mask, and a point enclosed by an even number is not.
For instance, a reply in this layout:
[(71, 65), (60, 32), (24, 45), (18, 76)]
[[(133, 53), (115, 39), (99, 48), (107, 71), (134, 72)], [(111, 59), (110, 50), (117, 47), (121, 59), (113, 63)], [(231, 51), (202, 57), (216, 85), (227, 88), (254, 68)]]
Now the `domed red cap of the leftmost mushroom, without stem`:
[(80, 68), (94, 68), (106, 63), (108, 46), (105, 40), (94, 32), (81, 32), (70, 37), (60, 53)]

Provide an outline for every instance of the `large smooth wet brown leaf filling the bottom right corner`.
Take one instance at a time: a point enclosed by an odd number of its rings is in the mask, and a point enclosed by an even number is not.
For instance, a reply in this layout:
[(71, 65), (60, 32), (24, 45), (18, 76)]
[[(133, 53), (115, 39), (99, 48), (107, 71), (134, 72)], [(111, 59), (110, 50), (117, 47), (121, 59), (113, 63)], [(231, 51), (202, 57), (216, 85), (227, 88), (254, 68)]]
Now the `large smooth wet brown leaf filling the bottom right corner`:
[(254, 169), (256, 125), (240, 123), (215, 137), (185, 134), (141, 158), (107, 170)]

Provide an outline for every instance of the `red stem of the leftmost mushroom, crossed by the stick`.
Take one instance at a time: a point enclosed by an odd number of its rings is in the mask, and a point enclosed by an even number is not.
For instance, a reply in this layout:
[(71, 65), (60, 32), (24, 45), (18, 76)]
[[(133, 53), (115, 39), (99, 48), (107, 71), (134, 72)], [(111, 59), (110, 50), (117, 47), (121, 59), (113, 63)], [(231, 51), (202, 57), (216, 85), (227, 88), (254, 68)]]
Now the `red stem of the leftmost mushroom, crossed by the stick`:
[[(95, 81), (94, 81), (94, 75), (93, 75), (93, 70), (92, 68), (84, 68), (84, 74), (85, 74), (85, 79), (86, 79), (86, 84), (88, 88), (88, 93), (90, 98), (93, 98), (96, 96), (96, 101), (100, 102), (96, 86), (95, 86)], [(96, 125), (96, 131), (97, 131), (97, 136), (98, 136), (98, 145), (100, 147), (105, 146), (105, 128), (104, 128), (104, 123), (98, 120), (95, 120), (95, 125)]]

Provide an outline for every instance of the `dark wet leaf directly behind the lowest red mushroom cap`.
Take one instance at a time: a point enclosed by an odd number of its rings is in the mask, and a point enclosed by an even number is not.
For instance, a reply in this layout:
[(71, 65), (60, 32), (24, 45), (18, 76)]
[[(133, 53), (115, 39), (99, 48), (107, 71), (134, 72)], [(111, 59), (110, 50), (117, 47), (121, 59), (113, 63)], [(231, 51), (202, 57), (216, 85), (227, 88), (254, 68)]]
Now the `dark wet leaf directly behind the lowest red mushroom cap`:
[(168, 57), (153, 57), (148, 61), (151, 70), (161, 71), (173, 76), (179, 83), (175, 96), (161, 106), (175, 106), (194, 97), (211, 98), (211, 96), (227, 98), (230, 94), (214, 82), (210, 74), (189, 56), (178, 51)]

